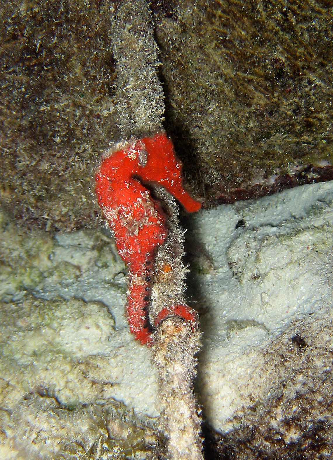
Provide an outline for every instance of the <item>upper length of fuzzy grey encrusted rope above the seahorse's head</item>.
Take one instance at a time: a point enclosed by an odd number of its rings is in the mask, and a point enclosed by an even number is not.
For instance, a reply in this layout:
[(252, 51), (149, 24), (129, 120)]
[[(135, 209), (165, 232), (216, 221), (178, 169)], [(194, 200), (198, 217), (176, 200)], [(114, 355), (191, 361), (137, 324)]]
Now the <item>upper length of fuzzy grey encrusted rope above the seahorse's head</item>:
[(164, 94), (158, 80), (158, 47), (147, 2), (121, 2), (117, 7), (114, 32), (113, 55), (118, 71), (117, 124), (126, 138), (160, 131), (164, 120)]

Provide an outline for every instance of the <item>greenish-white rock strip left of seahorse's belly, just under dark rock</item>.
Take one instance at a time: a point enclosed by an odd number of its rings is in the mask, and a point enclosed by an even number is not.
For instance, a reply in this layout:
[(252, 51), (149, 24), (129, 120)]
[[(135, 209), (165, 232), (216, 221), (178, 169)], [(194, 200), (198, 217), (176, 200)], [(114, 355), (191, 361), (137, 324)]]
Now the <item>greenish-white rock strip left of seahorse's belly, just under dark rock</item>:
[(22, 298), (45, 284), (72, 285), (91, 273), (125, 292), (124, 276), (119, 275), (126, 269), (108, 232), (31, 232), (18, 228), (0, 212), (0, 241), (2, 300)]

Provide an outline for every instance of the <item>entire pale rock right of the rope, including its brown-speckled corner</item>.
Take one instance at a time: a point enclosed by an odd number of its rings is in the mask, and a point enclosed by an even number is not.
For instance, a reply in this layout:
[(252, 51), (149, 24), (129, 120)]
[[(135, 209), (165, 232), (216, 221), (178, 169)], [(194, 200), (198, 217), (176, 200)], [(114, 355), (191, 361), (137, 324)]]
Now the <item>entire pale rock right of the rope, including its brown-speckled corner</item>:
[(332, 235), (332, 181), (191, 219), (205, 458), (332, 457)]

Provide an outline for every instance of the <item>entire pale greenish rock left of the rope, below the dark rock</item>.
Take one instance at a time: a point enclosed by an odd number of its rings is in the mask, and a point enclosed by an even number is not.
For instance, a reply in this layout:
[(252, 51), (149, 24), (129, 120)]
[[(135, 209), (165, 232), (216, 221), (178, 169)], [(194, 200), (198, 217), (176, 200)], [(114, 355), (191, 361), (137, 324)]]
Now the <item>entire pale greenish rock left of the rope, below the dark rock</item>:
[[(163, 453), (146, 415), (157, 414), (155, 376), (125, 324), (114, 240), (92, 230), (23, 230), (4, 213), (0, 235), (0, 458)], [(135, 402), (143, 403), (136, 414)]]

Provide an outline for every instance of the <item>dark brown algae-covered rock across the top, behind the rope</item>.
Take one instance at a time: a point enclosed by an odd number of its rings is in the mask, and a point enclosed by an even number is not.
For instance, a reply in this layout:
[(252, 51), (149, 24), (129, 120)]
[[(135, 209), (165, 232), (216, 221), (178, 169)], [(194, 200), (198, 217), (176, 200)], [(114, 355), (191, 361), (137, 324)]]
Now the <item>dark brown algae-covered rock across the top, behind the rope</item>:
[[(156, 93), (149, 78), (118, 87), (114, 30), (127, 26), (115, 28), (117, 3), (0, 5), (1, 201), (21, 223), (98, 225), (91, 176), (123, 135), (117, 107), (126, 118), (129, 98), (140, 119), (138, 88), (145, 100)], [(333, 177), (331, 1), (151, 8), (164, 127), (193, 195), (207, 205)], [(123, 68), (137, 75), (130, 56)]]

